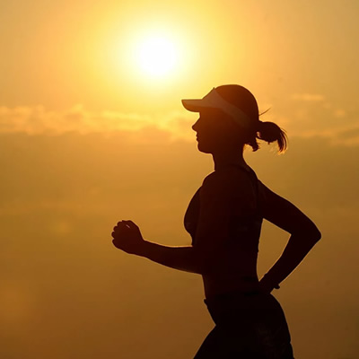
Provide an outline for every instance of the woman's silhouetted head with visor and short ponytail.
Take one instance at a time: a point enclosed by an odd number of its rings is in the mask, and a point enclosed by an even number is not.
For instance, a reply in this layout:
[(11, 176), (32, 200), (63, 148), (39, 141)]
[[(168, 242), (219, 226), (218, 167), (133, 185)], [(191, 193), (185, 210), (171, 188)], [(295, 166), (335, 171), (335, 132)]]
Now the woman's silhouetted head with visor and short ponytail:
[(182, 100), (182, 104), (200, 114), (192, 128), (197, 132), (201, 152), (238, 151), (244, 144), (257, 151), (257, 138), (267, 143), (277, 141), (279, 152), (285, 151), (285, 131), (273, 122), (259, 120), (255, 97), (241, 85), (218, 86), (203, 99)]

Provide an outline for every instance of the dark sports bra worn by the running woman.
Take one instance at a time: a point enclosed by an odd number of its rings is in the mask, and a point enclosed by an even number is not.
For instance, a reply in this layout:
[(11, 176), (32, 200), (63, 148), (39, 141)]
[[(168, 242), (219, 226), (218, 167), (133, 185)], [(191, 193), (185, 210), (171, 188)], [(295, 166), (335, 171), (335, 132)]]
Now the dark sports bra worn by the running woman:
[[(258, 188), (258, 178), (255, 173), (250, 168), (250, 171), (247, 171), (244, 167), (239, 164), (232, 164), (233, 166), (240, 168), (242, 171), (246, 171), (250, 176), (250, 181), (255, 188), (256, 192), (256, 210), (251, 215), (232, 215), (230, 218), (230, 228), (229, 228), (229, 241), (240, 241), (242, 250), (254, 250), (258, 252), (258, 243), (259, 236), (261, 231), (261, 226), (263, 223), (263, 215), (261, 214), (260, 203), (259, 203), (259, 188)], [(184, 227), (186, 231), (192, 237), (192, 245), (195, 244), (197, 222), (199, 217), (199, 191), (202, 188), (197, 189), (197, 192), (192, 197), (189, 202), (186, 214), (184, 216)]]

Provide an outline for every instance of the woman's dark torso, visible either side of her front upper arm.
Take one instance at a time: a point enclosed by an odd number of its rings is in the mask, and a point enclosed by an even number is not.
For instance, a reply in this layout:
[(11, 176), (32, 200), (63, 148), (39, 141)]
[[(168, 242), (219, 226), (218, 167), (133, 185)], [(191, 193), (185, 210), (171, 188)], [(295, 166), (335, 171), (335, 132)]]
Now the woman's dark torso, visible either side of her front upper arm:
[[(253, 206), (247, 217), (232, 215), (232, 235), (223, 254), (221, 273), (202, 275), (206, 298), (222, 293), (251, 292), (258, 289), (257, 258), (258, 241), (263, 217), (258, 208), (258, 180), (250, 167), (235, 166), (239, 171), (247, 171), (253, 184)], [(184, 217), (186, 230), (195, 241), (197, 218), (199, 215), (199, 191), (189, 202)]]

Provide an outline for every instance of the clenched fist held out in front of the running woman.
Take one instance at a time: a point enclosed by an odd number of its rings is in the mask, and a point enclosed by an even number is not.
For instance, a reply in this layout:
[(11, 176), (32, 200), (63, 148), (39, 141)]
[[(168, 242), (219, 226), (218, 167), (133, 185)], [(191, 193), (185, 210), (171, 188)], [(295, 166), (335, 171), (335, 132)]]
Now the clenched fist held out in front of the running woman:
[(139, 254), (144, 246), (140, 229), (132, 221), (118, 222), (111, 235), (113, 245), (129, 254)]

